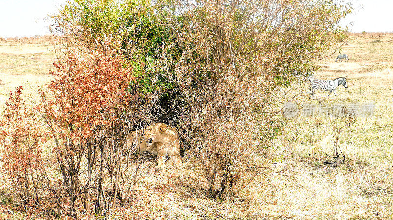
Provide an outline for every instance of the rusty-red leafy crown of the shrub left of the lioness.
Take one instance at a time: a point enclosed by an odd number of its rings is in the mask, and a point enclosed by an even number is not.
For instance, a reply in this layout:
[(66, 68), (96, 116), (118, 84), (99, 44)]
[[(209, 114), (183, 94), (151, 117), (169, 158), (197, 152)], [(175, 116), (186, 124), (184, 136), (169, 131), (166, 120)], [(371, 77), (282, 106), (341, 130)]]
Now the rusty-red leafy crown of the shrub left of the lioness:
[(51, 97), (41, 90), (39, 106), (54, 135), (85, 143), (98, 125), (112, 126), (117, 121), (114, 109), (127, 108), (132, 98), (127, 89), (134, 81), (132, 69), (123, 63), (114, 52), (104, 51), (88, 58), (70, 55), (65, 62), (54, 63), (57, 72), (51, 72), (48, 86)]

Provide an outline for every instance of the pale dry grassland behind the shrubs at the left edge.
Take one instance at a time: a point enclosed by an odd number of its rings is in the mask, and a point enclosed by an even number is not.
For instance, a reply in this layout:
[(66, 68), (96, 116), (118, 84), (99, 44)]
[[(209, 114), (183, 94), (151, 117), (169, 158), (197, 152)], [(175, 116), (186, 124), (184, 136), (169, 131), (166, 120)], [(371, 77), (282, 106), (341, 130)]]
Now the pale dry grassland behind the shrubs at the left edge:
[(49, 82), (54, 70), (54, 47), (49, 37), (0, 40), (0, 109), (9, 91), (23, 86), (23, 97), (36, 97), (37, 86)]

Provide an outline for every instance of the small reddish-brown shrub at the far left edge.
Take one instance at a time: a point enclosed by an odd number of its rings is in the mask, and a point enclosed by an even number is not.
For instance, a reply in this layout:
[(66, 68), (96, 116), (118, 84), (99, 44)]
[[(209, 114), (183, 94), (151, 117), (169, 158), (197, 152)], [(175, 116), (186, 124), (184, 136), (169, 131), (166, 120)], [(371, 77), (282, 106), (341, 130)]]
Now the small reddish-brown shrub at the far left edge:
[(22, 86), (9, 93), (4, 117), (1, 119), (0, 143), (2, 171), (10, 177), (20, 199), (38, 201), (37, 183), (43, 170), (41, 158), (45, 132), (36, 122), (32, 109), (20, 97)]

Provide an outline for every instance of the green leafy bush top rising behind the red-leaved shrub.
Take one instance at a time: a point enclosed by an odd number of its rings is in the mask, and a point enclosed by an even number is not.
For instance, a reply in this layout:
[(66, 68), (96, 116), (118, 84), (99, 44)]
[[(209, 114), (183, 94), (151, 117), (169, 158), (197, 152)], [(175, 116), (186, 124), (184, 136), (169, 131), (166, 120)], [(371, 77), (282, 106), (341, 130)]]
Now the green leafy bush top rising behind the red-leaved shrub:
[[(64, 44), (72, 49), (94, 51), (104, 39), (120, 42), (122, 53), (134, 69), (137, 87), (143, 93), (165, 91), (173, 87), (160, 74), (158, 55), (171, 39), (158, 25), (147, 0), (68, 0), (54, 16), (57, 33), (65, 36)], [(113, 45), (113, 46), (114, 46)]]

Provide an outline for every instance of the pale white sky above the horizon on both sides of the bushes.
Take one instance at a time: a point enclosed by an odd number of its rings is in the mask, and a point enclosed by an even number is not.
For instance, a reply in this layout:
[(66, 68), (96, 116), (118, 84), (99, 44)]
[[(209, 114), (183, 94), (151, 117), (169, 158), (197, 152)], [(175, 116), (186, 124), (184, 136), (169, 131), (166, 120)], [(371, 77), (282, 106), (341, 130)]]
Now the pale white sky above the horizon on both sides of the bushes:
[[(348, 0), (347, 0), (348, 1)], [(393, 0), (349, 0), (355, 12), (341, 22), (351, 32), (393, 32)], [(49, 34), (48, 14), (64, 0), (0, 0), (0, 37)], [(363, 7), (360, 8), (360, 5)]]

